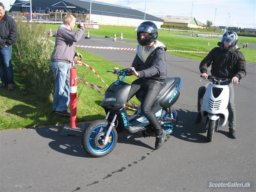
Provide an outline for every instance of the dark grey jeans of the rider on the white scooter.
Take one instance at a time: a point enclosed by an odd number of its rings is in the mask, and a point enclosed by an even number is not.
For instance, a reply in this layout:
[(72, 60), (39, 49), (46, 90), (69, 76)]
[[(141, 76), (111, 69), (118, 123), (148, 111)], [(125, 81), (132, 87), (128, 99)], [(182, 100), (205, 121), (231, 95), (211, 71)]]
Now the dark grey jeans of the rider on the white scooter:
[[(208, 87), (209, 83), (210, 82), (206, 82), (198, 89), (198, 100), (197, 100), (198, 112), (201, 111), (201, 107), (202, 107), (203, 101), (204, 101), (204, 94), (205, 94), (206, 88)], [(228, 104), (229, 129), (235, 129), (236, 128), (235, 92), (234, 92), (234, 86), (232, 83), (229, 83), (228, 86), (229, 86), (229, 104)]]

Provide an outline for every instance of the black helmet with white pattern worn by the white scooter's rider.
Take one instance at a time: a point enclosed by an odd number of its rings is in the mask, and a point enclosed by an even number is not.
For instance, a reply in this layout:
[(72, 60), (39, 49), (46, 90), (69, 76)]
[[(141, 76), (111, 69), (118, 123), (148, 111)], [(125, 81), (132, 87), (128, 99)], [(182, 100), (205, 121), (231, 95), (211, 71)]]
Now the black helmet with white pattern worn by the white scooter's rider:
[[(236, 47), (236, 44), (237, 44), (237, 40), (238, 40), (238, 36), (235, 32), (233, 31), (226, 31), (221, 40), (220, 40), (220, 48), (223, 50), (223, 51), (229, 51), (229, 50), (232, 50)], [(225, 48), (224, 47), (224, 43), (228, 43), (230, 45), (229, 48)]]

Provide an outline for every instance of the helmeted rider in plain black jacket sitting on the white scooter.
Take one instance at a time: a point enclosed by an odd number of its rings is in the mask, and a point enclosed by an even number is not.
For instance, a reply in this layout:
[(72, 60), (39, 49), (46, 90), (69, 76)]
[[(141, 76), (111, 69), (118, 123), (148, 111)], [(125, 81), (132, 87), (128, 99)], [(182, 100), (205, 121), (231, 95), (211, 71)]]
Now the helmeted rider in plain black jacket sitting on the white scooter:
[[(202, 78), (207, 79), (207, 68), (211, 65), (211, 75), (217, 78), (230, 78), (232, 79), (229, 84), (229, 135), (235, 139), (237, 138), (235, 127), (236, 127), (236, 110), (234, 103), (234, 88), (233, 84), (237, 84), (240, 79), (246, 75), (246, 62), (239, 48), (237, 47), (238, 36), (233, 31), (226, 31), (220, 42), (219, 47), (213, 48), (209, 54), (200, 63), (199, 69), (202, 73)], [(198, 90), (198, 103), (197, 110), (198, 115), (195, 119), (195, 124), (198, 124), (201, 117), (201, 106), (203, 104), (203, 97), (206, 88), (210, 82), (202, 85)]]

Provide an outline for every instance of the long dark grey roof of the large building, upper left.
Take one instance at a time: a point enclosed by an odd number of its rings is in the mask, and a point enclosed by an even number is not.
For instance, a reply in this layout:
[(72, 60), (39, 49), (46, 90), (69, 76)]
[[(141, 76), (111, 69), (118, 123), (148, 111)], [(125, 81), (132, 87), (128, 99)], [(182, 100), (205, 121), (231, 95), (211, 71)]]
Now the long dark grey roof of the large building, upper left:
[[(29, 1), (16, 0), (14, 2), (14, 6), (10, 9), (10, 12), (19, 11), (20, 8), (18, 7), (16, 8), (15, 6), (18, 4), (21, 5), (22, 3), (30, 6)], [(75, 9), (86, 9), (87, 11), (90, 11), (90, 0), (32, 0), (33, 10), (35, 10), (36, 7), (41, 7), (41, 9), (45, 9), (46, 7), (49, 7), (50, 9), (59, 9), (58, 6), (59, 8), (75, 7)], [(143, 19), (145, 14), (144, 12), (138, 11), (136, 9), (132, 9), (130, 7), (113, 5), (113, 4), (108, 4), (100, 1), (92, 1), (91, 14), (101, 14), (101, 12), (108, 13), (108, 15), (110, 16), (117, 16), (116, 14), (120, 14), (118, 15), (119, 17), (125, 17), (124, 15), (130, 15), (130, 17), (127, 16), (127, 18), (135, 18), (135, 19)], [(103, 15), (107, 15), (107, 14), (103, 14)], [(146, 13), (146, 20), (154, 20), (154, 21), (160, 21), (160, 22), (164, 21), (161, 18), (159, 19), (147, 13)]]

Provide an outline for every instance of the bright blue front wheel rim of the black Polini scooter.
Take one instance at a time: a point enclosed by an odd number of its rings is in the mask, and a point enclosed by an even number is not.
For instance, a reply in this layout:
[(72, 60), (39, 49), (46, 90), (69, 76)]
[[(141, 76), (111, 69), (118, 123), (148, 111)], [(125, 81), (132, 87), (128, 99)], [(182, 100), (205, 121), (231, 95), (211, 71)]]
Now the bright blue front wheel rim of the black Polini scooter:
[(95, 127), (91, 132), (90, 132), (90, 135), (88, 137), (88, 146), (90, 148), (90, 150), (93, 152), (93, 153), (96, 153), (96, 154), (103, 154), (103, 153), (106, 153), (108, 152), (114, 145), (115, 143), (115, 133), (114, 131), (112, 130), (110, 132), (110, 135), (112, 137), (111, 139), (111, 142), (110, 143), (107, 143), (107, 145), (104, 147), (104, 148), (100, 148), (98, 147), (96, 144), (95, 144), (95, 137), (96, 135), (98, 135), (100, 129), (102, 128), (102, 132), (104, 133), (107, 133), (107, 130), (108, 130), (108, 127), (105, 126), (105, 125), (101, 125), (101, 126), (97, 126)]

